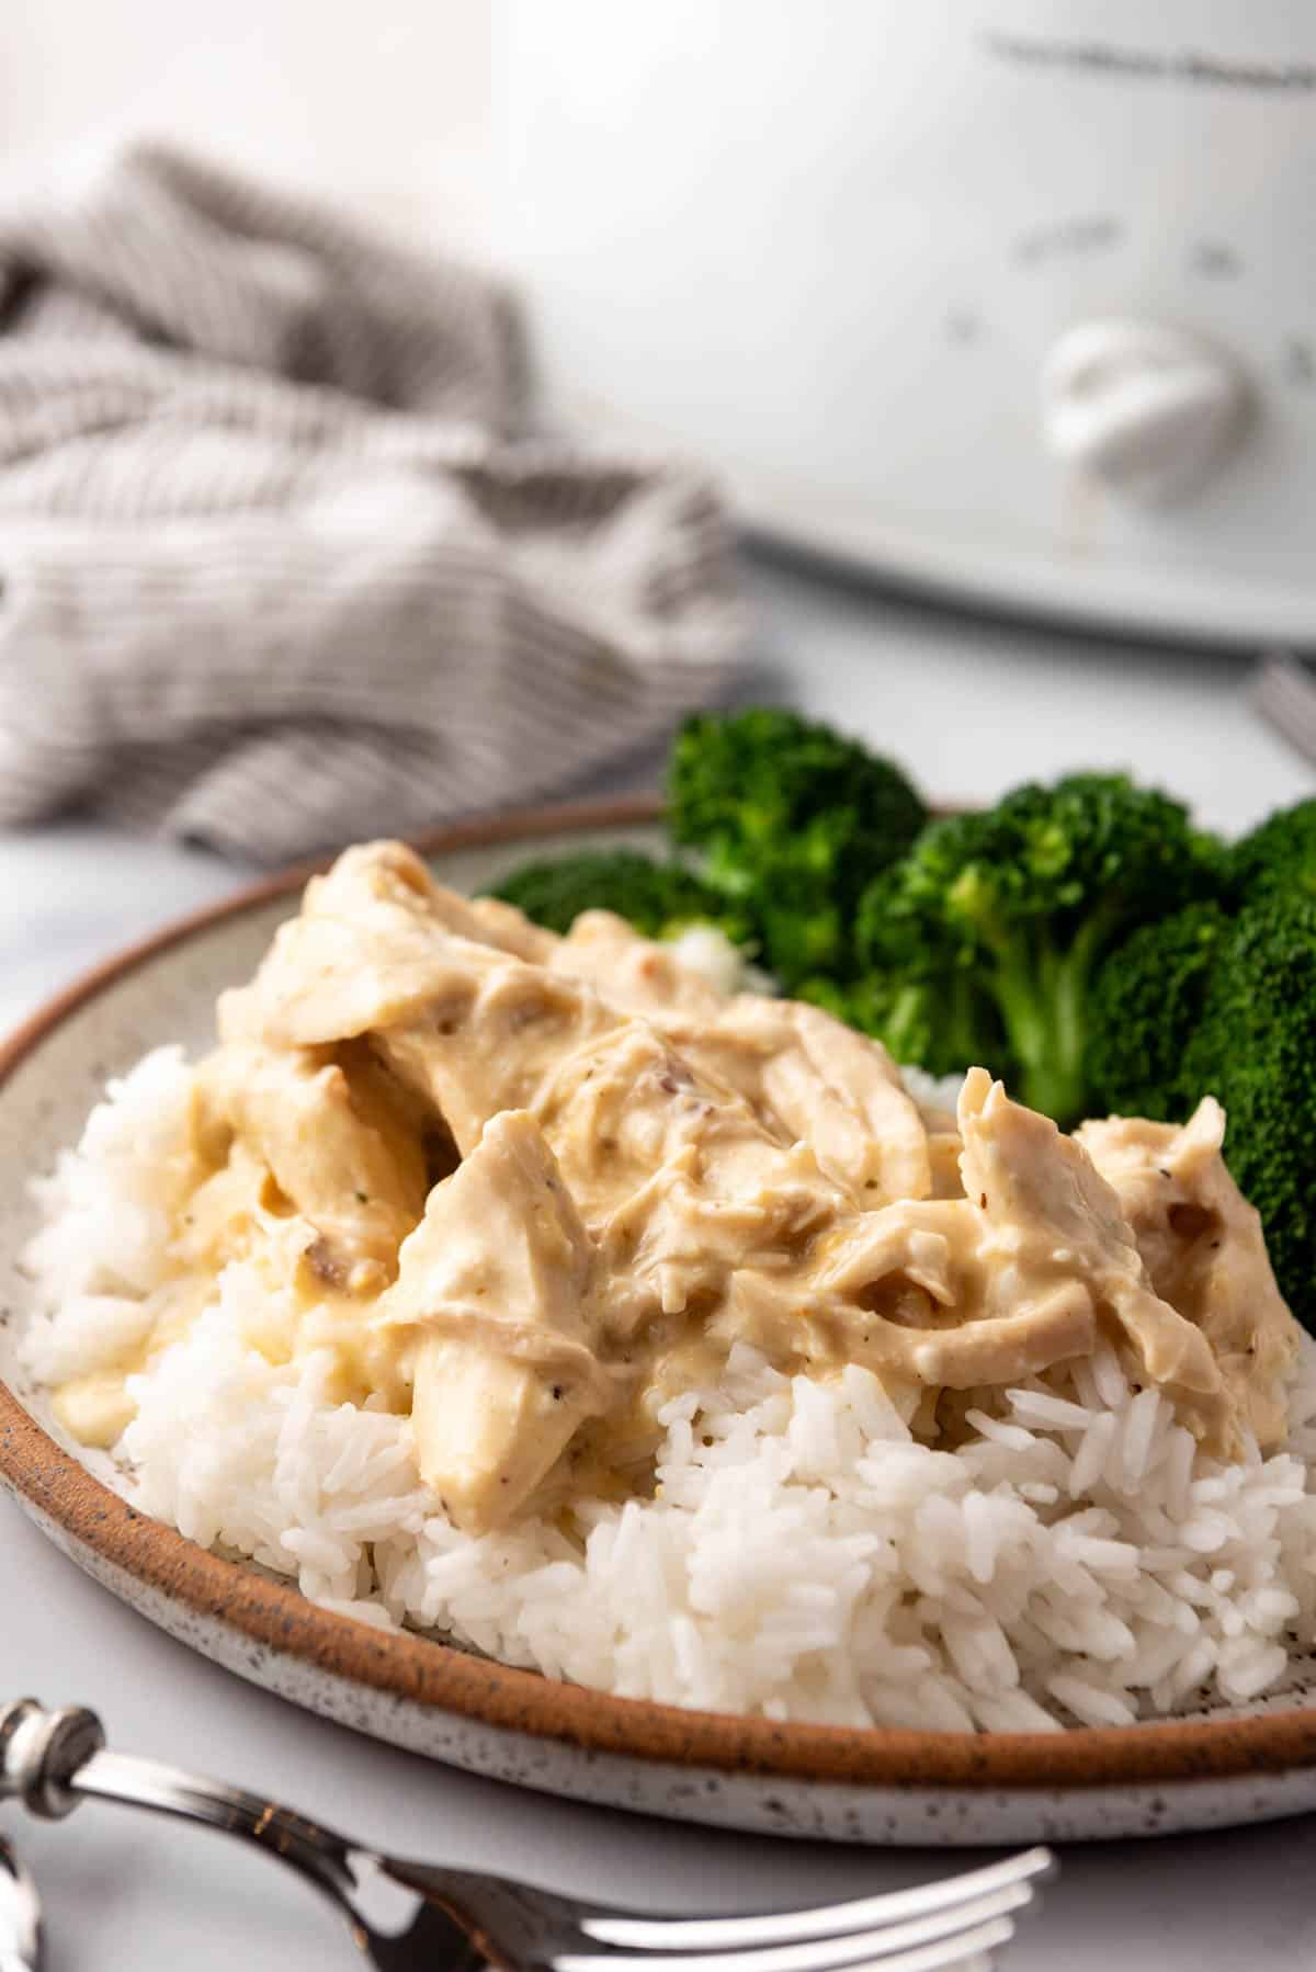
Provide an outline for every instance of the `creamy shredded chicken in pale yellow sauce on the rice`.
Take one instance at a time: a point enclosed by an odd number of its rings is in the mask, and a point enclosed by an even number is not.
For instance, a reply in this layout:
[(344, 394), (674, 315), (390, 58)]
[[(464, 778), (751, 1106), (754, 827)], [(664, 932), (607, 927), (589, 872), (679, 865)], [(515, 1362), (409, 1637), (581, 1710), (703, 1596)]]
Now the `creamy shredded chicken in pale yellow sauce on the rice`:
[[(736, 1341), (860, 1363), (937, 1438), (1107, 1339), (1207, 1449), (1282, 1436), (1298, 1331), (1211, 1098), (1061, 1136), (973, 1069), (921, 1110), (817, 1008), (724, 998), (608, 913), (556, 939), (389, 842), (308, 885), (219, 1043), (142, 1359), (256, 1266), (296, 1319), (253, 1345), (410, 1412), (466, 1528), (643, 1489), (659, 1408)], [(122, 1376), (59, 1404), (99, 1442), (132, 1412)]]

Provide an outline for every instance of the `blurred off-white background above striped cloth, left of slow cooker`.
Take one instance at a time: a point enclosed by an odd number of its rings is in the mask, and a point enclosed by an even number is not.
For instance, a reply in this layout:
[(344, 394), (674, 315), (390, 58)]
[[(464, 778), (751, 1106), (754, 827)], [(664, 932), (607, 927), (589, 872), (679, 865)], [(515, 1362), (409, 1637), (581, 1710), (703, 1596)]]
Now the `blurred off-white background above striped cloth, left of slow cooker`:
[(6, 0), (0, 174), (170, 136), (481, 254), (485, 0)]

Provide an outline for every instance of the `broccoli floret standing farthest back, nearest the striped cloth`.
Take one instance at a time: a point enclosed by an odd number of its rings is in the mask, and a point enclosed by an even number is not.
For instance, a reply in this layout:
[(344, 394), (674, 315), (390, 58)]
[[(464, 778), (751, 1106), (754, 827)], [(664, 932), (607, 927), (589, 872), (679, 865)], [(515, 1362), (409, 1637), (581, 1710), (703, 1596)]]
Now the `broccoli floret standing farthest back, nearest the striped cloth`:
[(762, 706), (687, 720), (667, 797), (673, 836), (752, 915), (764, 964), (787, 990), (817, 974), (854, 976), (864, 885), (927, 818), (892, 761)]

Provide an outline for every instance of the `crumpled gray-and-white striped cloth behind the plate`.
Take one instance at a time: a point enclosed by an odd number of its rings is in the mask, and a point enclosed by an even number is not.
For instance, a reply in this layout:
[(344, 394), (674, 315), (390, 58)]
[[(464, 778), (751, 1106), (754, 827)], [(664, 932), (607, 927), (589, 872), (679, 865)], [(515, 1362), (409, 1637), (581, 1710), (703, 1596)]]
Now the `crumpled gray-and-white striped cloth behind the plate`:
[(710, 485), (525, 432), (505, 290), (314, 201), (134, 146), (0, 211), (0, 822), (278, 862), (722, 696)]

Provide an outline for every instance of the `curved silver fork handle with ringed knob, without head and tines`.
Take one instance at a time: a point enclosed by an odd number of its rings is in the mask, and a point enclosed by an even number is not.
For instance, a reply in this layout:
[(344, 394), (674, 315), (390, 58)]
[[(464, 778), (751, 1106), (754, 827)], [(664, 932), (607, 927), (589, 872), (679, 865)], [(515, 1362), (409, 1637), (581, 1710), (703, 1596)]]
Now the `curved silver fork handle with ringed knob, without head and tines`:
[(85, 1706), (47, 1712), (36, 1698), (0, 1706), (0, 1800), (22, 1800), (32, 1814), (59, 1820), (89, 1796), (243, 1836), (339, 1903), (357, 1887), (353, 1860), (369, 1856), (331, 1828), (241, 1787), (203, 1781), (154, 1759), (107, 1753), (101, 1720)]

